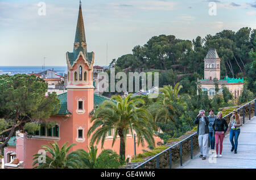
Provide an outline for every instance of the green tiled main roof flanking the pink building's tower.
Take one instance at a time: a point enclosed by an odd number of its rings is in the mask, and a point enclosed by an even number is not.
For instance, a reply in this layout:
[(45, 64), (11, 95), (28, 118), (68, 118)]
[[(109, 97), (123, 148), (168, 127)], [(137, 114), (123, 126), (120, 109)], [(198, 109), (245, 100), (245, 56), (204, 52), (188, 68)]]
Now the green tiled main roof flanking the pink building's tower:
[[(57, 95), (57, 98), (60, 99), (60, 110), (57, 114), (60, 114), (60, 115), (71, 114), (71, 112), (68, 111), (68, 104), (67, 104), (68, 93), (59, 94)], [(99, 106), (105, 100), (110, 100), (109, 98), (99, 94), (94, 94), (93, 99), (94, 99), (93, 108), (96, 108), (97, 105)]]

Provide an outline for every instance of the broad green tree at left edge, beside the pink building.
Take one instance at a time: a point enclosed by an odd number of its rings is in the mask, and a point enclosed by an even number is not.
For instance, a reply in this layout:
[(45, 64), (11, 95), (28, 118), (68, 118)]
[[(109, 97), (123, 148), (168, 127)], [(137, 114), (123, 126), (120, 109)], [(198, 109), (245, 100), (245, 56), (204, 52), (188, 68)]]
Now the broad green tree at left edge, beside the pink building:
[[(48, 119), (59, 111), (56, 93), (46, 97), (47, 89), (48, 84), (34, 75), (0, 76), (0, 135), (7, 136), (0, 149), (13, 136), (15, 128)], [(36, 131), (30, 129), (33, 130)]]

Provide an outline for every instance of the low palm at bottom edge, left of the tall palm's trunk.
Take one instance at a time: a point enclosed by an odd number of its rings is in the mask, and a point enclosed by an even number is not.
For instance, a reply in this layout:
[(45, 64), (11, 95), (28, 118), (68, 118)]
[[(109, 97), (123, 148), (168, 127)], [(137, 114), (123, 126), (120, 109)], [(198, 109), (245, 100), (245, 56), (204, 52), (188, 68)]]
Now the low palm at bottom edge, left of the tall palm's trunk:
[[(89, 148), (88, 148), (89, 149)], [(113, 152), (113, 150), (110, 149), (104, 149), (102, 150), (102, 152), (98, 155), (97, 157), (97, 152), (98, 152), (98, 148), (97, 146), (90, 146), (89, 152), (86, 152), (84, 149), (78, 149), (77, 152), (79, 152), (80, 154), (80, 163), (81, 163), (81, 167), (82, 168), (89, 168), (89, 169), (96, 169), (96, 168), (102, 168), (101, 166), (99, 167), (99, 162), (98, 161), (102, 161), (102, 159), (99, 159), (98, 157), (104, 156), (103, 154), (107, 154), (107, 156), (109, 158), (111, 158), (110, 161), (115, 163), (115, 168), (118, 168), (120, 166), (119, 164), (119, 159), (116, 158), (116, 156), (118, 156), (116, 153)], [(113, 154), (116, 154), (115, 158), (114, 156), (112, 156)], [(108, 162), (101, 162), (101, 164), (103, 163), (110, 163), (110, 161)], [(104, 168), (111, 166), (111, 164), (106, 164), (104, 165)], [(112, 167), (113, 168), (113, 167)]]

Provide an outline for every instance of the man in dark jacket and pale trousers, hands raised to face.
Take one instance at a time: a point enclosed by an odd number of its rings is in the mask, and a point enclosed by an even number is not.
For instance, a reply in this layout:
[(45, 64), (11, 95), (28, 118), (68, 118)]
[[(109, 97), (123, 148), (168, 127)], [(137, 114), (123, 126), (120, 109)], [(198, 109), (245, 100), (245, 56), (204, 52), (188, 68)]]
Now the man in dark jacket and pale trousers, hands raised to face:
[(206, 160), (209, 137), (209, 118), (205, 116), (204, 110), (199, 111), (199, 114), (196, 116), (194, 123), (197, 124), (198, 143), (201, 152), (200, 157), (202, 160)]

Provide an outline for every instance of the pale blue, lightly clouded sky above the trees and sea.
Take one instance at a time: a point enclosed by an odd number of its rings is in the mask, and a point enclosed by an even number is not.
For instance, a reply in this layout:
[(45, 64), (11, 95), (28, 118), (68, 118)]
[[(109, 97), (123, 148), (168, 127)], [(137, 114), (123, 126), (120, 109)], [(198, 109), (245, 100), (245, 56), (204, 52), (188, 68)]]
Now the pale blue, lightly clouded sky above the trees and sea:
[[(38, 13), (39, 2), (46, 5), (45, 15)], [(79, 0), (0, 0), (0, 66), (41, 66), (44, 57), (46, 66), (67, 65), (78, 11)], [(82, 0), (82, 14), (95, 65), (132, 53), (152, 36), (192, 40), (225, 29), (256, 28), (255, 0)]]

